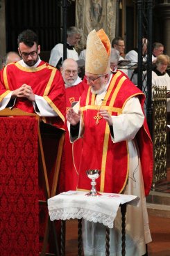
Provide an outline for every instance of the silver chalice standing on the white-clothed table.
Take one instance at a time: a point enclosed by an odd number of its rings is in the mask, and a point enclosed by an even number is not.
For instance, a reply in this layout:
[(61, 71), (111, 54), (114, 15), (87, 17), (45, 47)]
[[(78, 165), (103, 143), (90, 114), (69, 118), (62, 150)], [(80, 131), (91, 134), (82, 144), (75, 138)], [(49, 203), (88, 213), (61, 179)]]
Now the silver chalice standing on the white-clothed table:
[(92, 197), (96, 197), (97, 195), (101, 195), (99, 192), (96, 191), (96, 179), (99, 178), (99, 176), (101, 175), (101, 171), (99, 171), (99, 170), (87, 170), (86, 173), (87, 173), (87, 177), (89, 179), (92, 179), (92, 181), (90, 183), (92, 185), (92, 189), (86, 195), (89, 195), (89, 196), (92, 196)]

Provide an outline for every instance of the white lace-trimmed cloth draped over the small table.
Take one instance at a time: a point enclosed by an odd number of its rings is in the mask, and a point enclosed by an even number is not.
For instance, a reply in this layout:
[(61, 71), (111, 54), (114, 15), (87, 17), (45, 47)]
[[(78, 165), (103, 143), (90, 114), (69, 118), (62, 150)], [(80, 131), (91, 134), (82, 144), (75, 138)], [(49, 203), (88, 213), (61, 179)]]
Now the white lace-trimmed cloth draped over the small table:
[(101, 193), (101, 196), (89, 197), (85, 194), (85, 191), (68, 191), (48, 199), (51, 221), (84, 218), (112, 228), (120, 204), (137, 206), (139, 202), (135, 195)]

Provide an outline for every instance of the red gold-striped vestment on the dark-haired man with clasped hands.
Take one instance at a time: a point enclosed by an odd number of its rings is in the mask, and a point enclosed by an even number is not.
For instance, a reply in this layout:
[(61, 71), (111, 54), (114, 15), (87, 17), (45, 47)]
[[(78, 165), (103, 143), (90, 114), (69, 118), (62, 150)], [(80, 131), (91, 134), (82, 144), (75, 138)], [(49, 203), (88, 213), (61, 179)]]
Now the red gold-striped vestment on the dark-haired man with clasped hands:
[[(62, 128), (65, 122), (65, 86), (60, 71), (44, 61), (37, 68), (24, 68), (18, 62), (10, 63), (1, 72), (0, 101), (22, 84), (30, 85), (33, 93), (42, 96), (58, 114), (53, 118), (43, 117), (43, 121)], [(17, 98), (14, 107), (34, 113), (33, 103), (27, 98)]]

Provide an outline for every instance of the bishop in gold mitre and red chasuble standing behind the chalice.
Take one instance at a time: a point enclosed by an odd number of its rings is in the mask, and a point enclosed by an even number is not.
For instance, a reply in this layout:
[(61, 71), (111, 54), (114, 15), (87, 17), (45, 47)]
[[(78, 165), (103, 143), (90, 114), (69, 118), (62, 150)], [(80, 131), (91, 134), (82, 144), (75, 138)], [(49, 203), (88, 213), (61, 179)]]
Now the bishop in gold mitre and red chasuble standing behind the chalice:
[[(101, 170), (97, 191), (140, 198), (139, 206), (128, 206), (126, 213), (126, 255), (141, 256), (151, 242), (145, 196), (153, 178), (153, 145), (144, 93), (124, 73), (110, 72), (110, 51), (103, 29), (89, 33), (85, 61), (89, 87), (67, 112), (71, 142), (83, 138), (77, 190), (91, 189), (87, 170)], [(101, 223), (83, 222), (85, 256), (105, 255), (104, 241)], [(110, 229), (110, 255), (121, 255), (120, 212)]]

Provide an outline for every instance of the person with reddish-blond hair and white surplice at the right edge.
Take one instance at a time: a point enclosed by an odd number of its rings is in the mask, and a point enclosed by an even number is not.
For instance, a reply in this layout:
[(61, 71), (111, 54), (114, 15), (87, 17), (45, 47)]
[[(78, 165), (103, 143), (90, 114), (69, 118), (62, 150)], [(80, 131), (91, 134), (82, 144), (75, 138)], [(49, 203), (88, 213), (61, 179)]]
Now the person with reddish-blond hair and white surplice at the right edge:
[[(169, 56), (160, 54), (155, 61), (155, 68), (152, 71), (152, 85), (167, 86), (168, 95), (170, 95), (170, 77), (167, 73), (169, 63)], [(167, 112), (170, 112), (170, 98), (167, 98)]]

